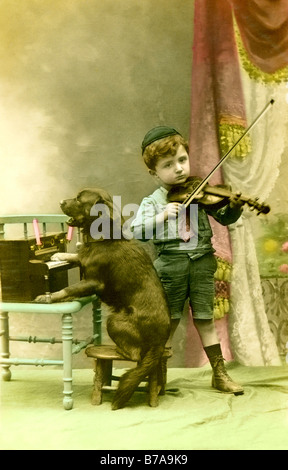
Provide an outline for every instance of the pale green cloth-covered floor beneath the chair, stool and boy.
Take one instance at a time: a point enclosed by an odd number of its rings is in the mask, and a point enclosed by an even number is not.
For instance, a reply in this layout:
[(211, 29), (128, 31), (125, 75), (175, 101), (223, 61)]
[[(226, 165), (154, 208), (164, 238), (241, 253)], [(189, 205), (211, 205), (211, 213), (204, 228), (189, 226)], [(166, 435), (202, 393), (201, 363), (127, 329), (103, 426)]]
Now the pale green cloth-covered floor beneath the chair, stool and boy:
[(117, 411), (113, 392), (91, 405), (90, 369), (73, 371), (74, 407), (66, 411), (61, 370), (14, 367), (11, 382), (1, 382), (0, 449), (288, 450), (288, 365), (227, 367), (244, 395), (212, 389), (209, 365), (169, 368), (157, 408), (136, 392)]

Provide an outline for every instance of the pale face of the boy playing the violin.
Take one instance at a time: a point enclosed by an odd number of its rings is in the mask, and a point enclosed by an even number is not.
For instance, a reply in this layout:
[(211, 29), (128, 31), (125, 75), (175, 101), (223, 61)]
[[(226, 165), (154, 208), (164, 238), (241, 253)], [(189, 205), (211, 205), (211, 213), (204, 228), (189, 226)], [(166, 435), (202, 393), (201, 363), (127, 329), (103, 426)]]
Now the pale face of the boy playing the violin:
[(155, 167), (155, 171), (150, 170), (150, 174), (155, 176), (166, 189), (184, 183), (190, 176), (190, 163), (188, 153), (183, 145), (178, 147), (176, 155), (161, 158)]

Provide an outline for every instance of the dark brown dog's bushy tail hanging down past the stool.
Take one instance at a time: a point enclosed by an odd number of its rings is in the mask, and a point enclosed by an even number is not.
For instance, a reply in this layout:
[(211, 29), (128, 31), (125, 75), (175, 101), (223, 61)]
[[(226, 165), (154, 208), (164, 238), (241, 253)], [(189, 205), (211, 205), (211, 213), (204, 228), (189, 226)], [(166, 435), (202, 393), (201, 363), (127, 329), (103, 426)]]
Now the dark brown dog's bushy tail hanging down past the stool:
[(115, 393), (112, 409), (118, 410), (123, 408), (129, 398), (133, 395), (138, 385), (144, 381), (146, 377), (159, 365), (164, 352), (164, 347), (152, 347), (147, 351), (142, 361), (137, 367), (130, 369), (122, 375), (119, 380), (119, 386)]

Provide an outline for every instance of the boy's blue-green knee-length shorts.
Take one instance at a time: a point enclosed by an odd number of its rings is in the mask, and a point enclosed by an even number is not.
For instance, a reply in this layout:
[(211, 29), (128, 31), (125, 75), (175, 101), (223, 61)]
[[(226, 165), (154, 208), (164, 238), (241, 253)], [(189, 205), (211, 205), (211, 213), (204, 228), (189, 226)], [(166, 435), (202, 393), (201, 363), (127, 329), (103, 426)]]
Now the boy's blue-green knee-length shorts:
[(193, 318), (213, 319), (214, 273), (217, 269), (213, 253), (196, 260), (191, 260), (187, 253), (162, 253), (154, 266), (168, 298), (171, 319), (182, 317), (188, 298)]

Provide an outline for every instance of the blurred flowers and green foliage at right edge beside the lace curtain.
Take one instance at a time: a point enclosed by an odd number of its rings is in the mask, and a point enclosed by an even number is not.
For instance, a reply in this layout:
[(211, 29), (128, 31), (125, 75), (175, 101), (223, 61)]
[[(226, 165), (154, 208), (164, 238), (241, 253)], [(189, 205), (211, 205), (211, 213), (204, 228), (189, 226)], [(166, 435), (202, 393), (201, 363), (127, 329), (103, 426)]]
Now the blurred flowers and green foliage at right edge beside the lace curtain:
[(261, 277), (288, 277), (288, 214), (275, 214), (256, 240)]

